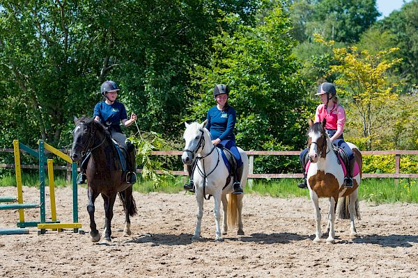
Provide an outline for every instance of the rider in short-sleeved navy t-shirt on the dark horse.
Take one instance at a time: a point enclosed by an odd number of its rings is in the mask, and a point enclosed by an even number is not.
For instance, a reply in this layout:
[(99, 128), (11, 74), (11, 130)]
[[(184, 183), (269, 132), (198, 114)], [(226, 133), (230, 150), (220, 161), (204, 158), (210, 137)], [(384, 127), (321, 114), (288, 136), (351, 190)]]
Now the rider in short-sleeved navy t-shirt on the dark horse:
[[(93, 111), (94, 120), (100, 122), (107, 127), (107, 130), (111, 134), (116, 142), (118, 142), (123, 149), (127, 151), (127, 182), (135, 183), (136, 181), (136, 163), (135, 163), (135, 149), (134, 145), (127, 140), (126, 136), (123, 135), (120, 122), (124, 126), (130, 126), (137, 120), (137, 115), (131, 114), (130, 120), (127, 120), (126, 109), (121, 102), (116, 101), (118, 97), (118, 85), (114, 81), (104, 81), (100, 86), (100, 92), (104, 96), (104, 100), (100, 101), (95, 105)], [(87, 163), (82, 163), (86, 165)], [(85, 166), (84, 166), (85, 167)], [(82, 174), (79, 177), (78, 183), (82, 184), (86, 182), (86, 169), (82, 167)]]

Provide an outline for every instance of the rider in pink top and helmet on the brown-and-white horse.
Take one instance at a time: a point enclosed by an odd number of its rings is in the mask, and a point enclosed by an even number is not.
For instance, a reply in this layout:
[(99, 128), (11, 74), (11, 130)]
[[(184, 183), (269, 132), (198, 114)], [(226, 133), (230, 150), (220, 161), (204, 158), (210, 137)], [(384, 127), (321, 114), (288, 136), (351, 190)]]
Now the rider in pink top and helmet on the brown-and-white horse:
[[(346, 152), (349, 160), (349, 167), (347, 171), (347, 177), (344, 180), (347, 188), (353, 187), (353, 171), (354, 171), (354, 153), (348, 147), (346, 141), (343, 138), (344, 124), (346, 123), (346, 112), (343, 106), (339, 105), (338, 99), (336, 98), (336, 90), (332, 83), (322, 83), (318, 87), (318, 92), (315, 94), (320, 97), (323, 104), (320, 104), (316, 108), (315, 122), (322, 122), (324, 119), (325, 132), (330, 136), (331, 142), (341, 147)], [(300, 188), (307, 188), (307, 173), (305, 172), (305, 156), (308, 153), (308, 149), (304, 149), (300, 153), (300, 163), (304, 172), (304, 179), (298, 184)]]

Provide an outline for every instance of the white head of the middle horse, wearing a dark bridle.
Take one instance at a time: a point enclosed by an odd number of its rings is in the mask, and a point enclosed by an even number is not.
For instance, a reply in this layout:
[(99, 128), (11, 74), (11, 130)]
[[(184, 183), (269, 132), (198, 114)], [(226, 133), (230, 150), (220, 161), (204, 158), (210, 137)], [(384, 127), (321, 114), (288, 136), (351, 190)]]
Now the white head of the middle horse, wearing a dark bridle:
[(183, 134), (185, 149), (183, 149), (181, 160), (186, 165), (192, 164), (194, 156), (205, 147), (205, 126), (207, 122), (208, 120), (201, 124), (199, 122), (192, 122), (192, 124), (185, 122), (186, 130)]

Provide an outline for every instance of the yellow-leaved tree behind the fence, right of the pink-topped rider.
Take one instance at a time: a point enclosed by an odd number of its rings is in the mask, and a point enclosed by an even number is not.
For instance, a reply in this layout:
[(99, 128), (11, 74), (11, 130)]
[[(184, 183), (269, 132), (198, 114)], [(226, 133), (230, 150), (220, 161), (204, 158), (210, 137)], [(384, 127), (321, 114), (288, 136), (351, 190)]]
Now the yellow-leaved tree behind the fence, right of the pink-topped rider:
[[(334, 44), (333, 41), (327, 42), (320, 37), (316, 40), (330, 47)], [(401, 61), (397, 58), (387, 59), (387, 56), (398, 49), (378, 51), (376, 55), (357, 47), (332, 50), (337, 64), (330, 67), (330, 73), (339, 74), (334, 81), (339, 86), (339, 95), (352, 101), (348, 102), (353, 108), (348, 110), (348, 115), (353, 117), (357, 113), (361, 119), (361, 136), (366, 139), (367, 149), (372, 149), (376, 131), (385, 123), (382, 116), (387, 111), (383, 108), (398, 97), (398, 84), (387, 82), (386, 76), (387, 70)]]

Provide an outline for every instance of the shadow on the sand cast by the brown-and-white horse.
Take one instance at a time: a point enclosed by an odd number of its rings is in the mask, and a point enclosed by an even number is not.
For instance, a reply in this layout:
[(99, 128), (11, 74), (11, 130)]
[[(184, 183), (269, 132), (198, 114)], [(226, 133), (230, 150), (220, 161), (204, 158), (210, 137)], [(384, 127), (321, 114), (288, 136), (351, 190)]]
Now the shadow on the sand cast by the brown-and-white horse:
[[(341, 240), (339, 243), (344, 243), (344, 241), (345, 240)], [(418, 236), (401, 234), (382, 236), (378, 234), (370, 234), (365, 236), (356, 236), (353, 240), (346, 241), (346, 243), (350, 242), (376, 244), (383, 247), (412, 247), (412, 243), (418, 243)]]

